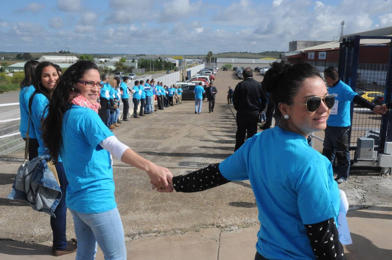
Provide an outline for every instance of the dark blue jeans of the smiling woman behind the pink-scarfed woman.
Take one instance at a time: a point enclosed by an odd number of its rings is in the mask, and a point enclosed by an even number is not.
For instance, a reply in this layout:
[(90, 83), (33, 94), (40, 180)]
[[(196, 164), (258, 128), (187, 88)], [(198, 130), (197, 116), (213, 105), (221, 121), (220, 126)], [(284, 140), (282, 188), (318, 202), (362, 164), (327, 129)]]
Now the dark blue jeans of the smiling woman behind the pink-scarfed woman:
[(60, 190), (62, 197), (54, 210), (56, 217), (50, 217), (50, 226), (53, 231), (53, 246), (55, 249), (61, 250), (67, 247), (67, 239), (65, 237), (65, 229), (67, 227), (67, 205), (65, 204), (65, 192), (67, 190), (68, 181), (65, 177), (64, 167), (62, 162), (57, 162), (55, 165), (58, 180), (60, 181)]

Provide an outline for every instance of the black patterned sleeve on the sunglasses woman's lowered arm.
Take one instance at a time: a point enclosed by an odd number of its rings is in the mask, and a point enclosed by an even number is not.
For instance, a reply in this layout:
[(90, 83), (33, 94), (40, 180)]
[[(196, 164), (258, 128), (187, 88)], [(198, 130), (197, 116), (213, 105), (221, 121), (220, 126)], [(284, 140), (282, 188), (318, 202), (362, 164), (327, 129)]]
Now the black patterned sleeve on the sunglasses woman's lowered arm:
[(317, 259), (346, 259), (334, 218), (316, 224), (306, 224), (305, 227)]

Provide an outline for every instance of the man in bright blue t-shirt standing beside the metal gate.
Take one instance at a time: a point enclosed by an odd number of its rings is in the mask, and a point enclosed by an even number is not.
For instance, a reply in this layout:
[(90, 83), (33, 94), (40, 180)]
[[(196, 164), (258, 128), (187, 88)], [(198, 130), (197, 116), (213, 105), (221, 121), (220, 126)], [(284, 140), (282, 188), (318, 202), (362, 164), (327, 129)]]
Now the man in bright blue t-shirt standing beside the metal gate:
[(350, 152), (348, 152), (348, 131), (351, 127), (350, 105), (354, 102), (362, 107), (369, 108), (378, 114), (379, 106), (359, 96), (350, 86), (340, 80), (338, 71), (334, 67), (324, 70), (324, 79), (327, 82), (328, 93), (335, 96), (335, 105), (331, 109), (325, 128), (323, 155), (328, 158), (332, 166), (336, 157), (335, 181), (338, 184), (347, 181), (350, 170)]

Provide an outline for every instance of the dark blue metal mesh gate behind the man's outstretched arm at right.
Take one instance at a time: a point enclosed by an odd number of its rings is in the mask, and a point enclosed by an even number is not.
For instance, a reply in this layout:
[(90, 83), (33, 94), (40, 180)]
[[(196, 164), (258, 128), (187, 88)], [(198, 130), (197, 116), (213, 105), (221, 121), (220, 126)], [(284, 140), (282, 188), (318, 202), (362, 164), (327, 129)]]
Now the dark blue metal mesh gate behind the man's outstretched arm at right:
[[(390, 40), (387, 44), (365, 44), (366, 39)], [(363, 42), (360, 42), (364, 40)], [(384, 41), (385, 42), (385, 41)], [(360, 44), (361, 43), (361, 44)], [(355, 92), (376, 104), (388, 103), (392, 94), (392, 37), (350, 36), (340, 43), (338, 72), (341, 80)], [(350, 155), (354, 160), (358, 137), (374, 139), (373, 159), (383, 153), (391, 139), (392, 113), (376, 115), (367, 108), (351, 104)], [(354, 166), (354, 168), (353, 168)], [(352, 170), (355, 170), (352, 161)], [(350, 168), (351, 169), (351, 168)]]

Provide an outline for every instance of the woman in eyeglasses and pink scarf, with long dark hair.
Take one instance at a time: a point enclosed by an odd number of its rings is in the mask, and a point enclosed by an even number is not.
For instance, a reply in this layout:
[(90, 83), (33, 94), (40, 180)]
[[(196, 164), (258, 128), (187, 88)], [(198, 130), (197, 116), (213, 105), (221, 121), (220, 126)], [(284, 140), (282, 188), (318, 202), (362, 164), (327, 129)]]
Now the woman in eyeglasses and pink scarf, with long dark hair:
[(97, 103), (102, 87), (95, 63), (74, 63), (58, 81), (43, 122), (44, 143), (54, 161), (60, 154), (69, 181), (66, 202), (78, 241), (76, 259), (94, 259), (97, 244), (105, 259), (127, 259), (123, 226), (114, 199), (111, 154), (146, 171), (156, 186), (172, 191), (167, 168), (120, 143), (102, 122)]

